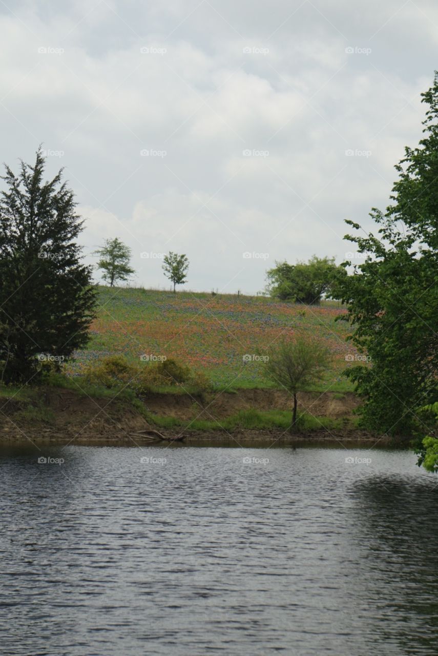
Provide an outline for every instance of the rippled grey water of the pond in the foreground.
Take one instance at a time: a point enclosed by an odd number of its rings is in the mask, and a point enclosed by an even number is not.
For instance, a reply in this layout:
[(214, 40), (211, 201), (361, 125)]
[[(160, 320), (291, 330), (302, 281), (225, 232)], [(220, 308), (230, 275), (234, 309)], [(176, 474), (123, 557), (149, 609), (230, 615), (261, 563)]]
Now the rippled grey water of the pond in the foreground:
[(2, 655), (437, 654), (438, 477), (410, 453), (3, 448), (0, 470)]

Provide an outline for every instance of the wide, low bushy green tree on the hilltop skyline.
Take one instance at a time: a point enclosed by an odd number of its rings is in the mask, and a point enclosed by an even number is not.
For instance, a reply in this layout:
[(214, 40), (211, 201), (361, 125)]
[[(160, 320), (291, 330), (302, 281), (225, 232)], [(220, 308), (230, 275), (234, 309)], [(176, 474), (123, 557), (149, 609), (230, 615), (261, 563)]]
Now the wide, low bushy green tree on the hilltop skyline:
[(296, 264), (275, 262), (275, 267), (266, 272), (269, 294), (281, 300), (317, 304), (323, 294), (330, 296), (334, 281), (344, 275), (344, 269), (336, 266), (334, 257), (319, 258), (313, 255), (307, 262)]

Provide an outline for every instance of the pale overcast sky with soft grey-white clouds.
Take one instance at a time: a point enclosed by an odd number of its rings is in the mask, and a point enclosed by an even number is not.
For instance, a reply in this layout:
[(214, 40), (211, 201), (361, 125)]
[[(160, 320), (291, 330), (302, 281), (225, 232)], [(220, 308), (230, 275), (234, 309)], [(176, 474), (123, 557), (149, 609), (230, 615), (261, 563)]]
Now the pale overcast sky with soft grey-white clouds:
[[(433, 0), (0, 1), (1, 160), (64, 167), (131, 285), (254, 294), (275, 261), (357, 257), (437, 66)], [(98, 272), (95, 279), (99, 280)]]

